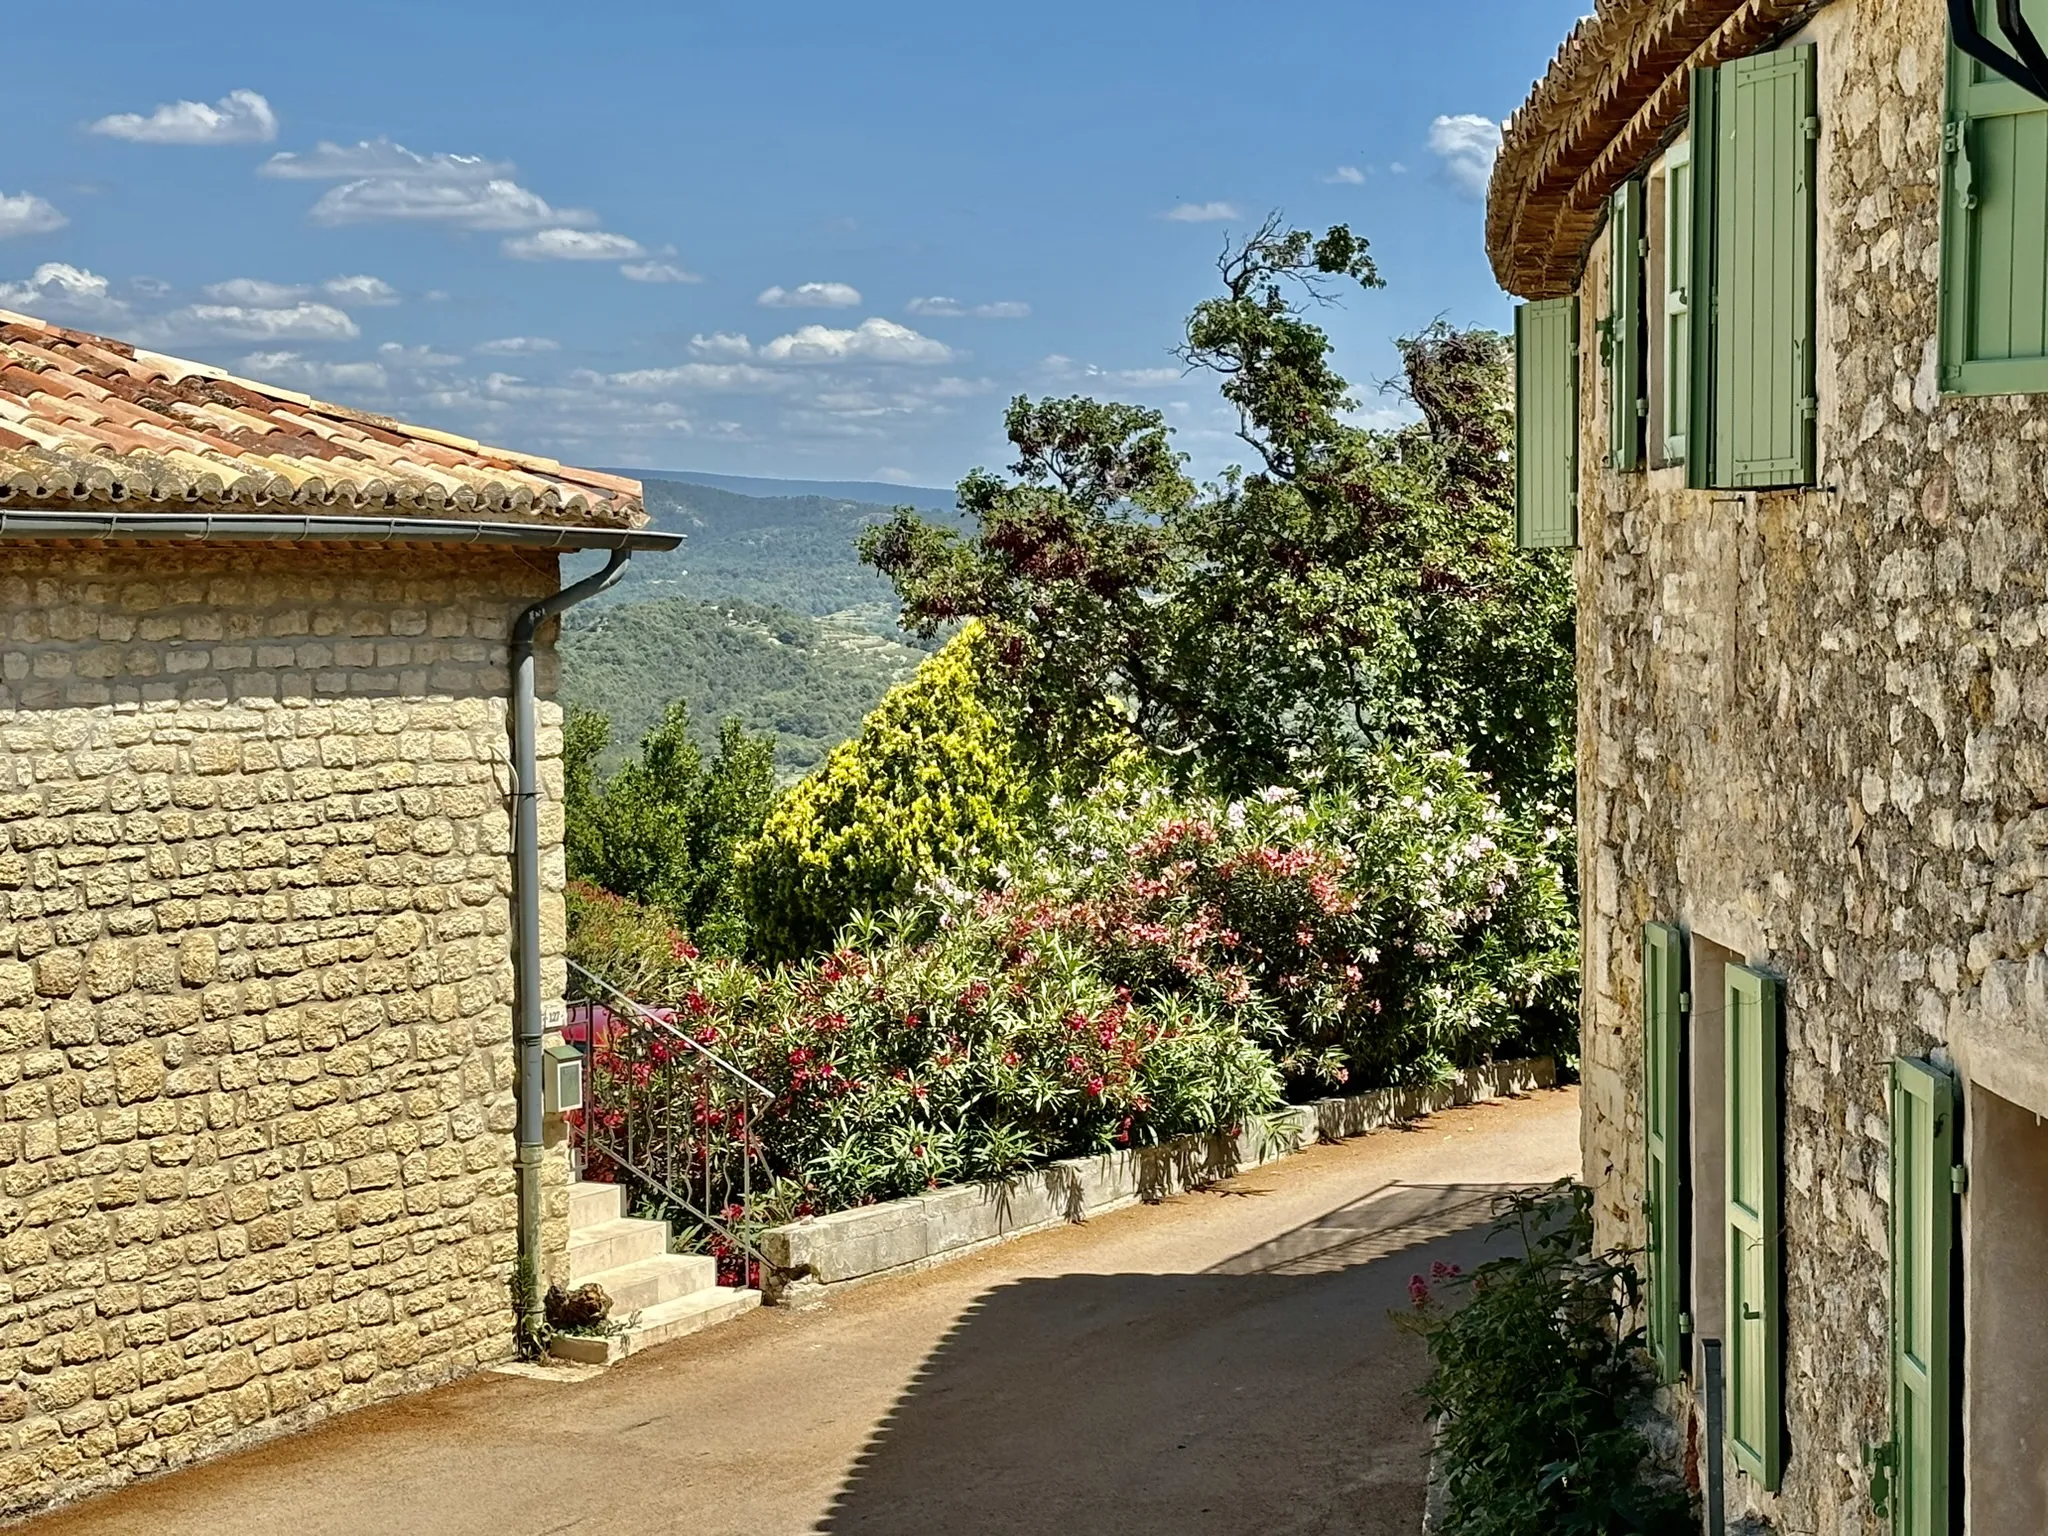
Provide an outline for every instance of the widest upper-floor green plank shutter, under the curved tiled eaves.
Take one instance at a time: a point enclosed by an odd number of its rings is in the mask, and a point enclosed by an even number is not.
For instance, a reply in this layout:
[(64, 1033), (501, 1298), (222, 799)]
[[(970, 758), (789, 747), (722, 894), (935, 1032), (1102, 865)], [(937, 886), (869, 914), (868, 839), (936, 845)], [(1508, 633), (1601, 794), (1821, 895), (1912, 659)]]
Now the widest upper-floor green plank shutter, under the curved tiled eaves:
[(1815, 49), (1694, 74), (1696, 489), (1815, 479)]

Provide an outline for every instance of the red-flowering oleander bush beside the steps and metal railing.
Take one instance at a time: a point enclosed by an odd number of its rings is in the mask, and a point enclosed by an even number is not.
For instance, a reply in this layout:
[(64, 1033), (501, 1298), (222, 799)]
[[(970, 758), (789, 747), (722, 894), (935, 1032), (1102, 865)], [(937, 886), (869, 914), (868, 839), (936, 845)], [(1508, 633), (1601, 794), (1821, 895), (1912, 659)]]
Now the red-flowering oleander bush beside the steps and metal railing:
[[(750, 967), (698, 956), (616, 897), (580, 893), (573, 915), (580, 965), (674, 1010), (698, 1042), (774, 1090), (756, 1135), (778, 1184), (756, 1210), (721, 1212), (741, 1225), (1227, 1130), (1280, 1100), (1253, 1036), (1257, 1010), (1133, 1001), (1079, 946), (1020, 954), (997, 926), (905, 911), (864, 920), (836, 954)], [(631, 1079), (637, 1104), (670, 1092), (698, 1100), (682, 1051), (629, 1053), (623, 1034), (594, 1053), (600, 1126), (629, 1110), (614, 1081)]]

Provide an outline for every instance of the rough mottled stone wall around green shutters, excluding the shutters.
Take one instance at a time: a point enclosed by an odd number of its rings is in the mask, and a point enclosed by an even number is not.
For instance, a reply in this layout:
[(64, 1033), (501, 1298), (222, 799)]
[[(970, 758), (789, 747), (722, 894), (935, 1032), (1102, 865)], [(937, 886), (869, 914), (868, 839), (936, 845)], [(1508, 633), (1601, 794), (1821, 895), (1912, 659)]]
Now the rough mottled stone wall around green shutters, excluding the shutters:
[(1888, 1061), (2048, 1112), (2048, 399), (1937, 389), (1942, 0), (1835, 0), (1808, 41), (1823, 487), (1614, 475), (1583, 412), (1585, 1169), (1638, 1245), (1647, 920), (1784, 977), (1790, 1462), (1735, 1497), (1876, 1536)]

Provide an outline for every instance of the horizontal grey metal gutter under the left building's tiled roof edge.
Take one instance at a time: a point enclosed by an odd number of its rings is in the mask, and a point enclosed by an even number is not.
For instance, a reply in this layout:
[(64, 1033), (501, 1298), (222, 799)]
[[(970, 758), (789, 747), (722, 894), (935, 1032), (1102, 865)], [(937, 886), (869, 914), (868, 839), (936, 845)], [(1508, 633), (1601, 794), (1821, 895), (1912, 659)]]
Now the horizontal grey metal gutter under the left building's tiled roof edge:
[(14, 512), (0, 539), (121, 539), (283, 545), (473, 545), (498, 549), (676, 549), (682, 535), (641, 528), (457, 518), (272, 516), (260, 512)]

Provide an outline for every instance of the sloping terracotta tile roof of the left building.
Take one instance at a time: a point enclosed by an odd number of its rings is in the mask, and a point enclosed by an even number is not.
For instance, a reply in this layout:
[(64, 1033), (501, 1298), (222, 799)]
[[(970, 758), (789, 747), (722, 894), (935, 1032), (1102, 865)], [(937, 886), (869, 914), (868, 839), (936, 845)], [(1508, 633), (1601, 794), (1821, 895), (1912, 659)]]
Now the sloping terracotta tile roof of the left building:
[(637, 479), (328, 406), (0, 309), (0, 508), (150, 502), (647, 522)]

